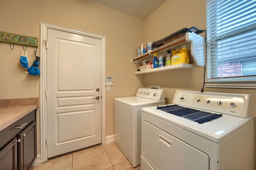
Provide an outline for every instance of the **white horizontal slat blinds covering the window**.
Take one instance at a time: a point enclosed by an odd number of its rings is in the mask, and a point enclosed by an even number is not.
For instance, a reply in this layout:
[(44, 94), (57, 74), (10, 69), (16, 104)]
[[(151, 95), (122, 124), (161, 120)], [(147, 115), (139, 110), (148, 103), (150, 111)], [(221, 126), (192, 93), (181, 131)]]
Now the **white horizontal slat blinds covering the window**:
[(256, 80), (256, 0), (207, 0), (208, 80)]

